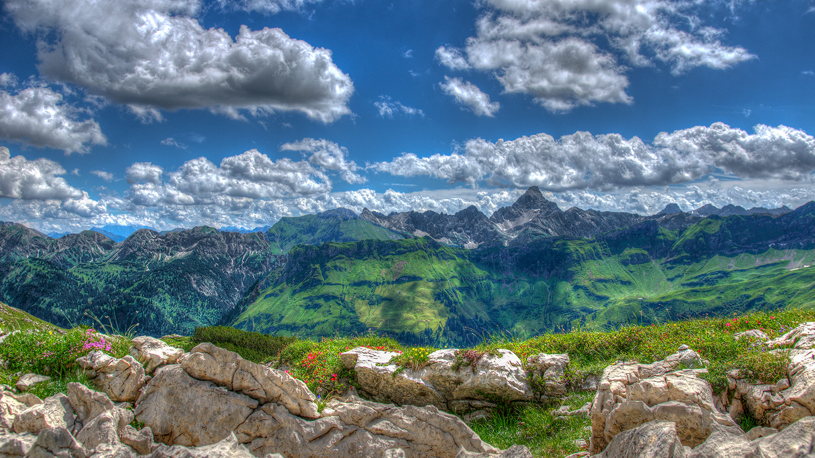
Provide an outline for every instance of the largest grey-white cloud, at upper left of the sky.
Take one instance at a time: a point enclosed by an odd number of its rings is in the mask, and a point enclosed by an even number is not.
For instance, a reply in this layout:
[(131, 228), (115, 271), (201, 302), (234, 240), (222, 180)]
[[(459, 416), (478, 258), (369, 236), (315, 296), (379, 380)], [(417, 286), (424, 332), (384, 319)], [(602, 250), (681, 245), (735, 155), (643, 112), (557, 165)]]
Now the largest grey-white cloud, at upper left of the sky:
[[(199, 0), (7, 0), (6, 10), (24, 31), (45, 31), (39, 69), (47, 77), (85, 86), (124, 103), (143, 119), (161, 120), (159, 109), (208, 108), (240, 117), (303, 112), (332, 122), (349, 114), (354, 86), (332, 53), (280, 29), (204, 29), (191, 15)], [(268, 11), (272, 0), (241, 2)]]

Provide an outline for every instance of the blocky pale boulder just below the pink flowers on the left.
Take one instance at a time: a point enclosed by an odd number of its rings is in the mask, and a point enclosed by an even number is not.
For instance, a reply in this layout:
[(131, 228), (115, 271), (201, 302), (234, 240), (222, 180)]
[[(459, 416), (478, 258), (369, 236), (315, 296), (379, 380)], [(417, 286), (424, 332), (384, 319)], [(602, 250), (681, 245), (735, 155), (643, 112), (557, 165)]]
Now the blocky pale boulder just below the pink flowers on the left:
[(113, 358), (103, 351), (93, 351), (77, 359), (83, 369), (95, 374), (94, 384), (117, 402), (132, 403), (139, 397), (139, 390), (150, 377), (132, 356)]

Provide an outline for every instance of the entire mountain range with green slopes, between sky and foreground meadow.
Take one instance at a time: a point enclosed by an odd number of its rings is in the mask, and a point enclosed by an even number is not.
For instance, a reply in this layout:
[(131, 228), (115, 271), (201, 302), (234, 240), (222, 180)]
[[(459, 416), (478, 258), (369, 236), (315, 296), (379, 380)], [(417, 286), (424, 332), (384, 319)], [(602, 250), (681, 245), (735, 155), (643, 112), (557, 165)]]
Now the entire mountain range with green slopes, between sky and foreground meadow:
[(0, 301), (64, 327), (96, 316), (154, 336), (226, 324), (435, 346), (815, 303), (815, 202), (641, 216), (562, 211), (531, 187), (490, 217), (334, 209), (266, 231), (102, 232), (0, 223)]

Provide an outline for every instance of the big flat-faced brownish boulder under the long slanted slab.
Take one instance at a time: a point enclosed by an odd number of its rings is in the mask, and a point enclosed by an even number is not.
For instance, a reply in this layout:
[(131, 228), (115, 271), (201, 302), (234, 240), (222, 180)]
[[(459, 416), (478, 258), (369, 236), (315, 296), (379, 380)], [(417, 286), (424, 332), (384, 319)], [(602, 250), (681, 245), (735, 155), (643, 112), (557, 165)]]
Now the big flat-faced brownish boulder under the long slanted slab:
[(162, 366), (136, 401), (136, 420), (168, 445), (203, 446), (226, 438), (258, 401), (190, 377), (177, 364)]

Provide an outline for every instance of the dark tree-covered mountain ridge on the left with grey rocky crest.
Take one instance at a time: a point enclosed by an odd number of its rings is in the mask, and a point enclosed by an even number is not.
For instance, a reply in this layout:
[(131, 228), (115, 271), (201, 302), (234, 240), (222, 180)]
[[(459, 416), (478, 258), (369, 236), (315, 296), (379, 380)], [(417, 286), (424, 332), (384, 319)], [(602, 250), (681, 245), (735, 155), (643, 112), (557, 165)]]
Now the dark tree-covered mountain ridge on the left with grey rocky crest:
[(189, 334), (218, 324), (279, 262), (259, 234), (211, 227), (163, 236), (143, 229), (118, 244), (96, 234), (110, 242), (104, 245), (91, 232), (68, 248), (60, 246), (65, 237), (10, 229), (0, 232), (8, 248), (0, 300), (63, 327), (92, 324), (89, 312), (120, 329)]

